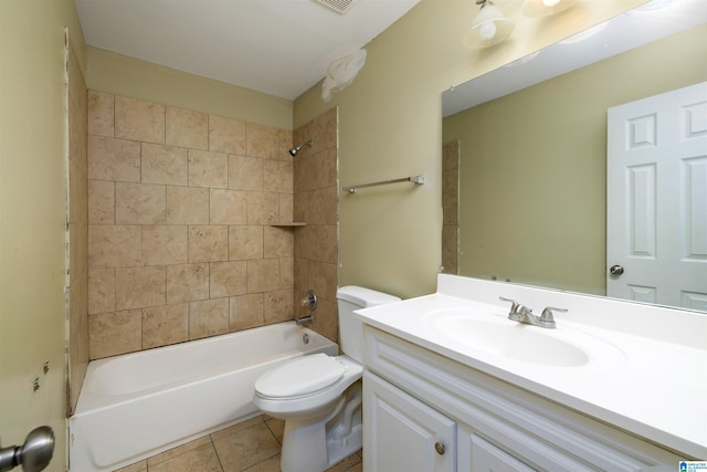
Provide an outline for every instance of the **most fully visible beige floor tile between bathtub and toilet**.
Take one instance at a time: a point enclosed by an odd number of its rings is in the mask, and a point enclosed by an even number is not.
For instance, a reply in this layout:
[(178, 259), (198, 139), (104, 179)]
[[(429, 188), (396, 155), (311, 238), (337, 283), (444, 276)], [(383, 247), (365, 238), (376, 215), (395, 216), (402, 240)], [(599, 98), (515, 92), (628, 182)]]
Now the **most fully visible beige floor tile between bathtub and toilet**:
[(213, 442), (224, 472), (253, 466), (279, 453), (279, 443), (265, 423), (224, 436)]

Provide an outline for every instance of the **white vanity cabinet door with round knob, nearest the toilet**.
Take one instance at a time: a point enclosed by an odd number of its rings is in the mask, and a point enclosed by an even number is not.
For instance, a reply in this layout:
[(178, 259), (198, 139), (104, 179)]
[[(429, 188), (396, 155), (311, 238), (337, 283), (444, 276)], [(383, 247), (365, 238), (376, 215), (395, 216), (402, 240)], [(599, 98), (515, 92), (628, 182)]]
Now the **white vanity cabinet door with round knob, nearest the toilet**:
[(363, 469), (367, 472), (453, 472), (453, 420), (380, 377), (363, 375)]

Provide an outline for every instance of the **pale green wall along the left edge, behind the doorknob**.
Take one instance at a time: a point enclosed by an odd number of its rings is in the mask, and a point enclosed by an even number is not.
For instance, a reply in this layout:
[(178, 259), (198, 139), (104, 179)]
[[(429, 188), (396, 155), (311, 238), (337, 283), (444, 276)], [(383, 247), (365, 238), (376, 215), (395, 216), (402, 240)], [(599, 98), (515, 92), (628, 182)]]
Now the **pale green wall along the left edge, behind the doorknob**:
[(49, 471), (66, 463), (65, 27), (85, 63), (72, 0), (0, 1), (0, 438), (52, 427)]

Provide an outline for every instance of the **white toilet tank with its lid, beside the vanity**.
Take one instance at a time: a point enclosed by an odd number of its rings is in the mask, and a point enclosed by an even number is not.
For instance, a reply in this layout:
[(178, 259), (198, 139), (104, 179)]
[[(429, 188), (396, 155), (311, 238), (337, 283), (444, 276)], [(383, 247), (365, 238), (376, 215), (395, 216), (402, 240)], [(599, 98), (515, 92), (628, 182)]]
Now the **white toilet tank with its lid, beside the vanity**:
[(347, 356), (362, 363), (363, 323), (354, 317), (354, 311), (400, 302), (400, 297), (383, 292), (347, 285), (336, 292), (339, 308), (339, 345)]

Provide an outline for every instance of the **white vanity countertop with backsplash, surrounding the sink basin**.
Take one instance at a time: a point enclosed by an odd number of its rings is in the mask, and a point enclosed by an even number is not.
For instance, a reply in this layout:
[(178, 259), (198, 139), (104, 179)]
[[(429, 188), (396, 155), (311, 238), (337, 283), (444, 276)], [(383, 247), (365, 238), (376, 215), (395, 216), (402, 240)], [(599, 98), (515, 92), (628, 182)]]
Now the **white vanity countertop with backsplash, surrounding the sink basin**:
[[(567, 314), (556, 314), (558, 336), (579, 332), (623, 356), (611, 363), (547, 366), (504, 359), (431, 328), (435, 311), (462, 308), (507, 318), (508, 304), (489, 303), (498, 296), (570, 306)], [(534, 307), (539, 312), (544, 306)], [(366, 324), (466, 366), (675, 452), (707, 459), (707, 315), (450, 275), (440, 275), (435, 294), (356, 313)], [(616, 322), (603, 326), (611, 319)], [(632, 329), (635, 324), (640, 326)]]

